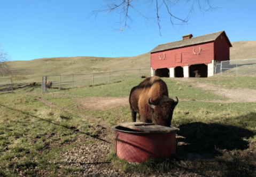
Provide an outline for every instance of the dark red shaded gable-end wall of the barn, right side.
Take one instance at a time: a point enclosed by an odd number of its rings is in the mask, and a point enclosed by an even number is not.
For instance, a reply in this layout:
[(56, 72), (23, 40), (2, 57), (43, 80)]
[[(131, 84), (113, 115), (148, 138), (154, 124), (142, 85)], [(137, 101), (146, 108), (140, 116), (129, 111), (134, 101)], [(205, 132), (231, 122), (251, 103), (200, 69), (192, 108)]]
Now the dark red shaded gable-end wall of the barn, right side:
[(229, 44), (226, 39), (226, 35), (222, 33), (223, 38), (221, 39), (221, 35), (216, 38), (214, 41), (214, 54), (216, 55), (216, 61), (225, 61), (229, 60)]

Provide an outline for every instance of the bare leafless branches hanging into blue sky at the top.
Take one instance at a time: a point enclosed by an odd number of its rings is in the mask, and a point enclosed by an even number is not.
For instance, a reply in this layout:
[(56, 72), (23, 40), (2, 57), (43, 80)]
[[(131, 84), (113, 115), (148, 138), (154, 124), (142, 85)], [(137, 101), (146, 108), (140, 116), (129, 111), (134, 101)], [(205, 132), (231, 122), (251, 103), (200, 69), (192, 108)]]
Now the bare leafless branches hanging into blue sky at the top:
[[(141, 15), (145, 20), (152, 20), (157, 23), (159, 28), (159, 34), (161, 36), (161, 17), (163, 12), (167, 12), (169, 16), (170, 23), (174, 25), (185, 25), (188, 23), (192, 12), (195, 12), (195, 8), (198, 8), (201, 12), (214, 10), (210, 4), (209, 0), (105, 0), (106, 5), (100, 7), (100, 9), (92, 11), (89, 15), (95, 15), (95, 18), (99, 12), (107, 14), (110, 12), (118, 12), (120, 14), (120, 29), (115, 31), (123, 31), (126, 28), (130, 28), (133, 18), (131, 18), (131, 13), (136, 12)], [(139, 10), (140, 6), (153, 6), (153, 10), (150, 10), (149, 15), (146, 15)], [(187, 15), (177, 15), (172, 13), (174, 7), (182, 7), (182, 9), (187, 8)], [(161, 13), (160, 13), (161, 12)], [(150, 15), (153, 16), (151, 17)], [(89, 18), (88, 17), (88, 18)], [(183, 17), (183, 18), (182, 18)]]

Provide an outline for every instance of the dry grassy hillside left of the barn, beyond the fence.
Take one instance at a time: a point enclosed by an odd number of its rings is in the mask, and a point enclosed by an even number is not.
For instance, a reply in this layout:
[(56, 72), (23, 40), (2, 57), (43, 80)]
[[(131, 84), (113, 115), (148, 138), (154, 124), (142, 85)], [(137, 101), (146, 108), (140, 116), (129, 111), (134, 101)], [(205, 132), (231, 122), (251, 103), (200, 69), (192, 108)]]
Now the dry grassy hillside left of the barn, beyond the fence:
[[(59, 57), (30, 61), (10, 61), (7, 63), (12, 68), (12, 75), (0, 78), (12, 77), (13, 83), (40, 83), (42, 82), (42, 76), (45, 75), (90, 74), (116, 70), (150, 69), (150, 53), (144, 53), (135, 57)], [(133, 71), (127, 71), (127, 75), (129, 73), (133, 73)], [(115, 81), (115, 74), (112, 73), (112, 82)]]

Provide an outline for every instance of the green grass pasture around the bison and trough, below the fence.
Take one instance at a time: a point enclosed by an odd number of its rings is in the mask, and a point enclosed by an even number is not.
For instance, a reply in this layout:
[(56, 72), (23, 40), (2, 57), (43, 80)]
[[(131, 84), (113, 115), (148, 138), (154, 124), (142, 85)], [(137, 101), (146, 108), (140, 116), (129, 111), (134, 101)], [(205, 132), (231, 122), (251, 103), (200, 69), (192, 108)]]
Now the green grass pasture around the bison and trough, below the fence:
[[(172, 126), (180, 128), (177, 157), (135, 165), (118, 159), (111, 151), (105, 159), (109, 162), (108, 168), (145, 175), (184, 171), (203, 176), (255, 176), (256, 103), (211, 102), (227, 98), (193, 87), (190, 82), (163, 79), (169, 96), (180, 99), (172, 120)], [(229, 88), (255, 89), (255, 77), (193, 79), (219, 86), (224, 84)], [(77, 99), (88, 96), (123, 98), (129, 96), (131, 88), (141, 81), (143, 79), (134, 78), (94, 87), (52, 89), (43, 95), (40, 85), (1, 93), (0, 176), (76, 176), (86, 173), (86, 169), (69, 166), (59, 154), (103, 139), (96, 120), (106, 127), (131, 122), (130, 108), (81, 109)], [(185, 101), (188, 99), (197, 101)], [(114, 137), (110, 140), (114, 142)], [(191, 153), (209, 158), (189, 159), (186, 155)]]

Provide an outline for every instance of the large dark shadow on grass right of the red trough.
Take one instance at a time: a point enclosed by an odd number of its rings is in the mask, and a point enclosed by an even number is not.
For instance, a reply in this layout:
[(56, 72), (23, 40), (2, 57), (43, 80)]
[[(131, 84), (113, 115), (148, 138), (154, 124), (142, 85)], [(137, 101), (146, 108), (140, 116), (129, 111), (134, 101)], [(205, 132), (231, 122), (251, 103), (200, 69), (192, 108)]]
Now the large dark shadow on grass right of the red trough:
[[(254, 112), (250, 116), (256, 117)], [(239, 119), (239, 117), (237, 117)], [(246, 120), (245, 120), (246, 121)], [(250, 138), (256, 132), (232, 125), (206, 124), (202, 122), (188, 123), (179, 126), (177, 135), (177, 155), (181, 159), (214, 159), (221, 156), (218, 149), (244, 150), (249, 148)]]

